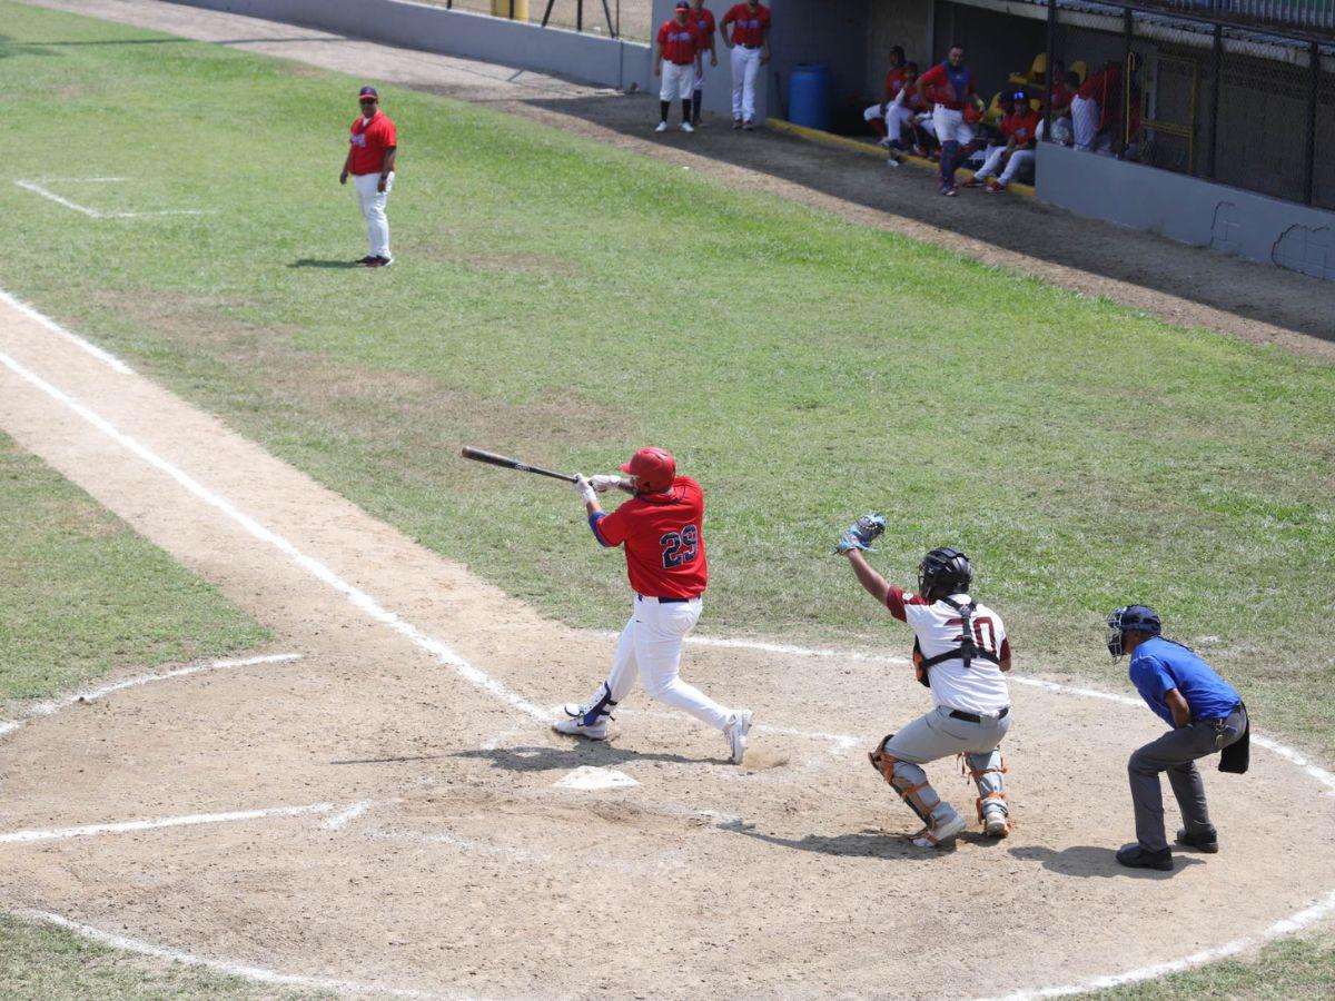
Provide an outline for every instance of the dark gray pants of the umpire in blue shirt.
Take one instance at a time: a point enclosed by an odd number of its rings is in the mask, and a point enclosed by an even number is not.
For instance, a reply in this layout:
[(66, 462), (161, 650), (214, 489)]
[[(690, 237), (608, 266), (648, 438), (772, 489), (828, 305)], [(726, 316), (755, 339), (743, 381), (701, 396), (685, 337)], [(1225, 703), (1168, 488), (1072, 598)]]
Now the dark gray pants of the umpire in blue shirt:
[(1168, 848), (1164, 836), (1164, 797), (1159, 773), (1168, 773), (1168, 785), (1177, 798), (1183, 826), (1189, 834), (1214, 831), (1206, 806), (1206, 783), (1196, 767), (1199, 758), (1222, 751), (1242, 739), (1247, 711), (1235, 709), (1227, 719), (1203, 719), (1180, 730), (1169, 730), (1131, 755), (1127, 775), (1131, 802), (1136, 809), (1136, 841), (1145, 852)]

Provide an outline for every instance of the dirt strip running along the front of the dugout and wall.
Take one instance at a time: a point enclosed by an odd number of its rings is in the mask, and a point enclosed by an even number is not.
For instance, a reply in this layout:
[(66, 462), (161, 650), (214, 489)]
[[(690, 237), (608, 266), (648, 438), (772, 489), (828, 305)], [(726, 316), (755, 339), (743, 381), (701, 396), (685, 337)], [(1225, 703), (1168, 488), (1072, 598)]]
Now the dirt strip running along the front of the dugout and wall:
[(654, 139), (655, 105), (646, 95), (618, 95), (509, 67), (156, 0), (28, 3), (486, 103), (729, 186), (769, 191), (1081, 295), (1107, 296), (1172, 323), (1335, 360), (1335, 282), (1080, 219), (1029, 199), (975, 198), (976, 192), (937, 198), (932, 178), (917, 168), (888, 176), (869, 157), (764, 131), (741, 137), (717, 117), (694, 136), (673, 132)]

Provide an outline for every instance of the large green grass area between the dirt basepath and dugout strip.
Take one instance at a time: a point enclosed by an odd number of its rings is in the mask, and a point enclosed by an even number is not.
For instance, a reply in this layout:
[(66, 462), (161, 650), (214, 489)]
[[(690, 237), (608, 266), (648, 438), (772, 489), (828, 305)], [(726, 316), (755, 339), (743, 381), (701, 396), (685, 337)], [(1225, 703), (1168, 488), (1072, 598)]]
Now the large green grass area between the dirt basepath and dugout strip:
[[(1260, 729), (1335, 757), (1331, 367), (396, 88), (398, 262), (347, 270), (359, 81), (0, 17), (12, 179), (212, 212), (91, 220), (0, 184), (0, 286), (542, 611), (619, 625), (619, 561), (569, 488), (459, 444), (586, 472), (672, 448), (710, 502), (702, 633), (901, 651), (825, 555), (880, 509), (892, 579), (971, 553), (1019, 670), (1124, 686), (1101, 619), (1148, 602)], [(1266, 956), (1224, 993), (1335, 985), (1328, 944)], [(1214, 974), (1184, 976), (1152, 990)]]

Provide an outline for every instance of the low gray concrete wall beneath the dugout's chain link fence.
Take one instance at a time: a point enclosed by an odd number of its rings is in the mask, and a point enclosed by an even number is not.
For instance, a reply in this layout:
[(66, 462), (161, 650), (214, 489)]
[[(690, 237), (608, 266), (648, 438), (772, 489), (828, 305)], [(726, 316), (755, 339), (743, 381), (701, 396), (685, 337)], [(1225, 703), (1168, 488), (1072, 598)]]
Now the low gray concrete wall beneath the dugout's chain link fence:
[(1077, 215), (1335, 282), (1335, 212), (1039, 144), (1037, 196)]

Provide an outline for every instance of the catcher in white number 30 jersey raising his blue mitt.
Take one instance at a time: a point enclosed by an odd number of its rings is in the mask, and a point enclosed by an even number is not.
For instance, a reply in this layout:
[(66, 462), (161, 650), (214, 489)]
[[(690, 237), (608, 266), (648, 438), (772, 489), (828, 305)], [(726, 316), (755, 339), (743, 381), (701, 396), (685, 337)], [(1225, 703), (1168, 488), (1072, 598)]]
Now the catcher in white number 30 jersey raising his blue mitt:
[(881, 777), (925, 825), (910, 836), (918, 848), (940, 848), (957, 838), (964, 818), (930, 783), (922, 765), (963, 754), (979, 787), (983, 830), (1004, 838), (1009, 830), (1001, 738), (1011, 729), (1011, 642), (1001, 617), (969, 597), (969, 558), (949, 547), (934, 549), (918, 563), (918, 594), (885, 582), (862, 557), (885, 531), (885, 518), (866, 514), (834, 546), (848, 558), (858, 583), (913, 627), (913, 663), (918, 681), (932, 689), (936, 707), (868, 754)]

